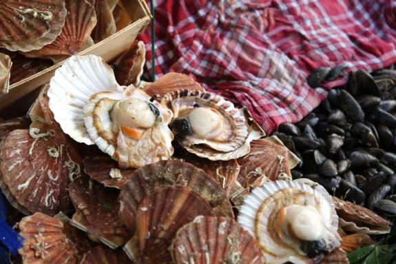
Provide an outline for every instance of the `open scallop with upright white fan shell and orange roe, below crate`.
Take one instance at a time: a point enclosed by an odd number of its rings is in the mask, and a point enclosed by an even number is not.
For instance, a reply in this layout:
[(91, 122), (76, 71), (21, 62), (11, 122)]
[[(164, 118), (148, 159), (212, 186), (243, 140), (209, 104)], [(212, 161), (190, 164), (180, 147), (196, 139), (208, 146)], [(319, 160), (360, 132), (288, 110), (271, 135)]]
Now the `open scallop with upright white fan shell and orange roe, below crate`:
[(131, 85), (118, 85), (100, 57), (73, 56), (51, 79), (50, 109), (66, 134), (96, 144), (121, 168), (167, 160), (172, 112)]

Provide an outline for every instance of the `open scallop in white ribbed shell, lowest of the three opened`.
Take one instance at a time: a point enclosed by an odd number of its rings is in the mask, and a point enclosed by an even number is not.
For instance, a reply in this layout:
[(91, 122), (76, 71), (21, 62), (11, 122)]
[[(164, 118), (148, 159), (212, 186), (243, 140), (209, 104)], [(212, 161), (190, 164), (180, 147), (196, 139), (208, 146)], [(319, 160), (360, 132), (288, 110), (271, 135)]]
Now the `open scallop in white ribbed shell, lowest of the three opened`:
[(269, 263), (317, 263), (341, 244), (330, 195), (293, 181), (255, 188), (238, 223), (256, 237)]

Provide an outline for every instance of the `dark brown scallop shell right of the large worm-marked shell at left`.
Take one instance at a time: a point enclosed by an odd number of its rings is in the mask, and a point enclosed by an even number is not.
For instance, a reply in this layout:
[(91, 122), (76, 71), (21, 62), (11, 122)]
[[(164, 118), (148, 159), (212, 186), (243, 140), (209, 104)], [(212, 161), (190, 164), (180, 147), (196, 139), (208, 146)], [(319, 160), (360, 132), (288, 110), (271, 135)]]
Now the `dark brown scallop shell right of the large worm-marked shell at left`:
[(69, 193), (76, 208), (72, 225), (87, 232), (93, 241), (114, 249), (132, 236), (118, 216), (118, 190), (81, 177), (69, 185)]

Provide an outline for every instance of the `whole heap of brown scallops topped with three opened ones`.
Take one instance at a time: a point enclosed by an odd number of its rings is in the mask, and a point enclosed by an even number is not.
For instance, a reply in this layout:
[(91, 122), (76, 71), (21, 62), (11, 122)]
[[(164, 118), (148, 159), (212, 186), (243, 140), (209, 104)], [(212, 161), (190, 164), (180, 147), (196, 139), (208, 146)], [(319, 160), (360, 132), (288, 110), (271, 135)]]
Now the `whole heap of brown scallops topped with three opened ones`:
[(138, 41), (115, 73), (72, 56), (27, 117), (1, 121), (23, 263), (348, 263), (365, 230), (389, 229), (293, 181), (300, 159), (247, 109), (184, 74), (141, 81), (144, 58)]

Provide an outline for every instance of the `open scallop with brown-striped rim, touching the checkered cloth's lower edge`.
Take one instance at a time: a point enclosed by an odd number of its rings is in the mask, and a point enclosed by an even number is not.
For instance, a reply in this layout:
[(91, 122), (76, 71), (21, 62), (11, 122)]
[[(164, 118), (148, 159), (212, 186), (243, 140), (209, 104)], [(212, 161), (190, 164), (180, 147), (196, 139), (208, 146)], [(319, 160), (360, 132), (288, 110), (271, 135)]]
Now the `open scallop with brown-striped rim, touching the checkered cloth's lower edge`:
[(174, 112), (170, 125), (180, 145), (212, 161), (238, 159), (265, 135), (247, 109), (210, 92), (178, 90), (165, 94), (161, 104)]

